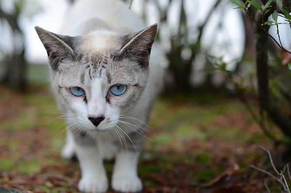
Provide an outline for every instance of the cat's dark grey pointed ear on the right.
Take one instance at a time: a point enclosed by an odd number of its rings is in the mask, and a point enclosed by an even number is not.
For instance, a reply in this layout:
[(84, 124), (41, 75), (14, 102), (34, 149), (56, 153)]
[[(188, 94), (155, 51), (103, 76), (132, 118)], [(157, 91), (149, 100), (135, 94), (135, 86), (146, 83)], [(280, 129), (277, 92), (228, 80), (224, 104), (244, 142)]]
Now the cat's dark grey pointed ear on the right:
[(125, 55), (143, 67), (147, 66), (150, 51), (157, 35), (157, 28), (158, 24), (155, 23), (140, 32), (125, 35), (123, 37), (124, 46), (119, 55)]

